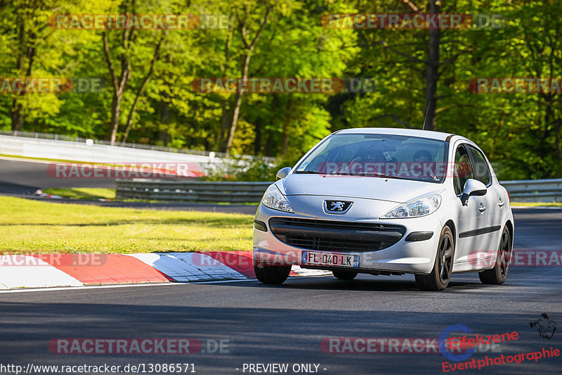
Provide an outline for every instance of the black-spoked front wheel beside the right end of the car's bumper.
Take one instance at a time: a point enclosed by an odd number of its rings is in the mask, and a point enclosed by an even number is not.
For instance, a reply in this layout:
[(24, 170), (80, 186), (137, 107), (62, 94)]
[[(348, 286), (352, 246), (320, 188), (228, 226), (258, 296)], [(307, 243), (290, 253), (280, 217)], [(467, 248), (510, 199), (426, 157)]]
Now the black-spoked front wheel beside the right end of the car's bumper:
[(452, 263), (455, 259), (455, 239), (451, 229), (445, 225), (441, 230), (437, 254), (431, 274), (417, 274), (416, 284), (422, 291), (443, 291), (449, 285)]

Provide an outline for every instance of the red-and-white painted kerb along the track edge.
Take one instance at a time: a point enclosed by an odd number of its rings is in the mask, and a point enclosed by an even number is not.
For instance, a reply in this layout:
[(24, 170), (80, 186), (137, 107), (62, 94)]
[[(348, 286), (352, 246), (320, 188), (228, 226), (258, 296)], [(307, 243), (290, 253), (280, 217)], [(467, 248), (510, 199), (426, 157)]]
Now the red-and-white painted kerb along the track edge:
[[(293, 266), (291, 276), (325, 271)], [(255, 279), (251, 251), (0, 255), (0, 289)]]

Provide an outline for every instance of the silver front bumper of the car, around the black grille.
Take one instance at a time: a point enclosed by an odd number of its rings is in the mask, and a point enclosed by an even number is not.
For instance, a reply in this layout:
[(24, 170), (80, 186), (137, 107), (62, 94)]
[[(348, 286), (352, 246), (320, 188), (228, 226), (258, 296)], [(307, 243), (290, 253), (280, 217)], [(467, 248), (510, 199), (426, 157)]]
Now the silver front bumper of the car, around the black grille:
[[(315, 201), (313, 205), (318, 207), (326, 197), (308, 197), (307, 201)], [(267, 231), (256, 229), (263, 224), (254, 226), (254, 260), (263, 264), (293, 264), (301, 267), (316, 269), (334, 269), (327, 265), (308, 265), (302, 262), (303, 250), (318, 251), (322, 253), (344, 253), (348, 255), (359, 255), (359, 267), (353, 268), (358, 272), (367, 273), (414, 273), (429, 274), (433, 269), (435, 262), (437, 243), (443, 224), (440, 222), (438, 215), (435, 213), (424, 217), (398, 219), (398, 220), (379, 220), (378, 213), (387, 212), (396, 206), (393, 202), (373, 201), (369, 199), (354, 199), (355, 211), (346, 213), (345, 215), (327, 215), (324, 212), (281, 212), (272, 210), (260, 204), (256, 212), (255, 220), (266, 225)], [(376, 209), (375, 209), (376, 206)], [(381, 214), (382, 215), (382, 214)], [(400, 240), (391, 246), (382, 248), (381, 250), (358, 250), (355, 248), (338, 248), (337, 250), (324, 250), (320, 248), (307, 248), (293, 246), (287, 243), (287, 240), (280, 236), (276, 236), (270, 227), (270, 218), (301, 218), (308, 220), (332, 220), (334, 222), (357, 222), (361, 224), (385, 224), (405, 227), (405, 232)], [(421, 232), (425, 232), (421, 234)], [(432, 232), (431, 238), (428, 232)], [(409, 237), (408, 237), (409, 236)], [(406, 241), (406, 240), (409, 241)], [(414, 240), (414, 241), (412, 241)], [(346, 269), (346, 267), (337, 267), (337, 269)]]

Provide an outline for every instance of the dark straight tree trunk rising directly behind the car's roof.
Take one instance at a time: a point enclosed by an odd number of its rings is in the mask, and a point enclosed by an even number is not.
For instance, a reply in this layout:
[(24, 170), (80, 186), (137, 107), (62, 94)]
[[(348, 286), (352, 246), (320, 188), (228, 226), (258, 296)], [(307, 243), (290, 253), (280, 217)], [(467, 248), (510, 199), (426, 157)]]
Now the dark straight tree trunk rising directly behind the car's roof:
[[(439, 13), (436, 0), (429, 1), (429, 13)], [(426, 67), (426, 122), (424, 129), (435, 129), (435, 110), (437, 107), (437, 81), (439, 79), (439, 43), (440, 30), (438, 28), (429, 30), (429, 52)]]

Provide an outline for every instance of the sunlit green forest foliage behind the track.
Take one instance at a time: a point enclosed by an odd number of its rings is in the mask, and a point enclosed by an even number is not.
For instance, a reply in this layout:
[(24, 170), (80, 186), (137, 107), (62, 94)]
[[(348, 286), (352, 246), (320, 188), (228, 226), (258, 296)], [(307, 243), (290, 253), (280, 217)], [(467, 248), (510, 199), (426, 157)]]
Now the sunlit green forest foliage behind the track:
[[(228, 27), (169, 30), (152, 79), (140, 97), (129, 141), (219, 151), (235, 94), (201, 93), (197, 77), (240, 77), (251, 39), (270, 6), (256, 43), (249, 77), (365, 77), (374, 92), (242, 96), (233, 154), (277, 157), (233, 172), (235, 179), (271, 180), (322, 137), (348, 127), (421, 128), (424, 121), (429, 30), (338, 30), (322, 26), (327, 13), (428, 12), (427, 1), (283, 0), (136, 1), (137, 13), (221, 15)], [(436, 130), (462, 134), (488, 154), (501, 179), (562, 177), (562, 96), (559, 93), (477, 94), (475, 77), (562, 77), (562, 3), (556, 0), (441, 1), (442, 13), (500, 13), (497, 28), (441, 30)], [(101, 30), (48, 27), (53, 14), (122, 12), (128, 0), (15, 0), (0, 8), (0, 76), (100, 77), (99, 92), (0, 94), (0, 129), (108, 139), (112, 82)], [(204, 19), (204, 18), (203, 18)], [(230, 20), (230, 21), (229, 21)], [(18, 30), (24, 30), (20, 39)], [(159, 30), (136, 30), (127, 57), (131, 80), (124, 90), (117, 139), (150, 67)], [(120, 72), (122, 30), (108, 32)], [(228, 46), (228, 53), (226, 52)], [(32, 49), (33, 58), (27, 52)], [(223, 121), (223, 117), (226, 121)], [(223, 175), (211, 178), (225, 178)]]

